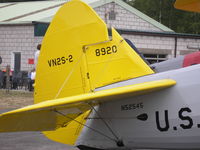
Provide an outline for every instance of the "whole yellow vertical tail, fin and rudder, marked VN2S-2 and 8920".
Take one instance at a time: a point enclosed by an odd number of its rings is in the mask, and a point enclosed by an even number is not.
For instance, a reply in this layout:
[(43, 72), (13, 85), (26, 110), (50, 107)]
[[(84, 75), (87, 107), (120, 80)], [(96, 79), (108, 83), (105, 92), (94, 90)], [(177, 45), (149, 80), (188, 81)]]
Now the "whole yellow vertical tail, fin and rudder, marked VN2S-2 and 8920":
[[(152, 73), (114, 29), (109, 39), (106, 24), (91, 7), (73, 0), (59, 9), (43, 39), (34, 101), (88, 93), (100, 86)], [(88, 113), (82, 112), (76, 118), (78, 122), (84, 124), (82, 116)], [(62, 117), (56, 119), (63, 122)], [(80, 129), (72, 120), (65, 127), (44, 134), (49, 139), (73, 145)]]

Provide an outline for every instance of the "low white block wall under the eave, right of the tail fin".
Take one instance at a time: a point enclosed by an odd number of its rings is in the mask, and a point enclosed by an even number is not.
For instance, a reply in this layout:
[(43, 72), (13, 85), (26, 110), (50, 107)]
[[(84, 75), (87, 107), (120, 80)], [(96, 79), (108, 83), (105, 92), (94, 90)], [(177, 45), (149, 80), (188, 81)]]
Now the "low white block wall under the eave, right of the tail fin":
[[(122, 35), (124, 38), (131, 40), (134, 45), (146, 54), (167, 54), (168, 58), (174, 57), (175, 38), (143, 35)], [(177, 39), (177, 56), (185, 55), (197, 51), (190, 49), (188, 46), (199, 47), (200, 39), (178, 38)]]

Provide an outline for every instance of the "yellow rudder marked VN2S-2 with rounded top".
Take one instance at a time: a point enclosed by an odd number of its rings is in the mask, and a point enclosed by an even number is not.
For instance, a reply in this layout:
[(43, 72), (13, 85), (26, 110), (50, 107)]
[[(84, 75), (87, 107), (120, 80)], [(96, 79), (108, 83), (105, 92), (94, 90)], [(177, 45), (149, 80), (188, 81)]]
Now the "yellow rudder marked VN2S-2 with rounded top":
[(106, 24), (85, 3), (63, 5), (42, 42), (35, 103), (90, 91), (83, 46), (108, 40)]

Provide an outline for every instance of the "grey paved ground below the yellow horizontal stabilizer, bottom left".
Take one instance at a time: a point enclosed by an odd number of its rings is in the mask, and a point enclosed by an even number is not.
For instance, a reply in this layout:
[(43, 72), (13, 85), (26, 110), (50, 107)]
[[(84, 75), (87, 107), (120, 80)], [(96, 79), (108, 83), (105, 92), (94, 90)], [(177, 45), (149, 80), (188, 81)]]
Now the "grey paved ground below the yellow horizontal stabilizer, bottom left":
[[(3, 113), (6, 110), (0, 110)], [(0, 150), (77, 150), (48, 140), (40, 132), (0, 133)]]

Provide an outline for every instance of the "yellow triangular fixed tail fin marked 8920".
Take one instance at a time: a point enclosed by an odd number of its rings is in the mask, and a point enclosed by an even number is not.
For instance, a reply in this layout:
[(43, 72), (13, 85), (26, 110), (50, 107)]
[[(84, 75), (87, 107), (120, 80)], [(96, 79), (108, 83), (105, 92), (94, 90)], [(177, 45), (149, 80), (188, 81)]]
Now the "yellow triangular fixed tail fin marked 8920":
[(86, 46), (86, 58), (92, 89), (154, 73), (114, 28), (110, 41)]

